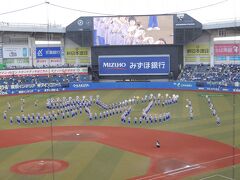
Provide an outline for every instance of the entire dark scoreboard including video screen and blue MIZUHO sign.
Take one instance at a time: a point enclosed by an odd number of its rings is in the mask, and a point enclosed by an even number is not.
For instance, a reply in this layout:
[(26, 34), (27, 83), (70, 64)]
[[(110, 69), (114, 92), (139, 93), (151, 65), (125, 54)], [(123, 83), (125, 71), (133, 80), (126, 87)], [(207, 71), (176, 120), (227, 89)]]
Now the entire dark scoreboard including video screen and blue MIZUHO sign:
[(67, 38), (91, 48), (96, 80), (177, 78), (183, 45), (201, 34), (187, 14), (80, 17), (66, 28)]

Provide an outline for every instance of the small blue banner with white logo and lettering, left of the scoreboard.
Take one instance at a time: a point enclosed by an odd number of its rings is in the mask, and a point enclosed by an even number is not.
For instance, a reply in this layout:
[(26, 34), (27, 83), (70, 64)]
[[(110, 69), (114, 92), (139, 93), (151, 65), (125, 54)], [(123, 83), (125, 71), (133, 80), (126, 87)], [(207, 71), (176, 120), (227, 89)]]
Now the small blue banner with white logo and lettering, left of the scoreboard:
[(37, 47), (36, 48), (36, 58), (61, 58), (61, 48), (60, 47)]

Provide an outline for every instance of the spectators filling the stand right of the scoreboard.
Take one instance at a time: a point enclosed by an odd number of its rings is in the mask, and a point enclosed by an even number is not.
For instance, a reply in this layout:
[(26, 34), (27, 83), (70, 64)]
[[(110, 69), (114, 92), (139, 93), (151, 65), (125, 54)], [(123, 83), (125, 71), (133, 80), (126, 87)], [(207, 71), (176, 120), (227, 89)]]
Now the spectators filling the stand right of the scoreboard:
[(222, 86), (234, 85), (240, 82), (240, 64), (221, 64), (213, 67), (206, 64), (188, 64), (185, 65), (178, 80)]

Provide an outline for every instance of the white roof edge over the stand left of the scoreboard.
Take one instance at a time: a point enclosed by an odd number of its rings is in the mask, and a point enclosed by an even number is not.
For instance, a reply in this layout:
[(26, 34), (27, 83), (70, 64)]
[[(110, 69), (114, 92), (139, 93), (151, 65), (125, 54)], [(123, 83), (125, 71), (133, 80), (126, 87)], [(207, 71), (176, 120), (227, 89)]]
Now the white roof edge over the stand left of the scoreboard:
[(66, 28), (55, 24), (23, 24), (0, 22), (0, 31), (2, 32), (47, 32), (47, 33), (65, 33)]

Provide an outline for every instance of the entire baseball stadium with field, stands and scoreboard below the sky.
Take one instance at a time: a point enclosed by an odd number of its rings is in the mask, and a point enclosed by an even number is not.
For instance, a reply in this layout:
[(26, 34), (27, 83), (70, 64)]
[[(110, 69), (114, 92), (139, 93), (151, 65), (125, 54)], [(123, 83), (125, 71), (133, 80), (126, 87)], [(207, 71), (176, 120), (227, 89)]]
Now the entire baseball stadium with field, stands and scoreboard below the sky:
[(240, 179), (240, 21), (0, 22), (0, 179)]

